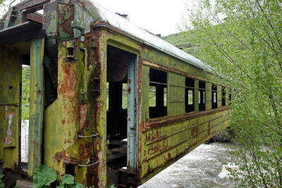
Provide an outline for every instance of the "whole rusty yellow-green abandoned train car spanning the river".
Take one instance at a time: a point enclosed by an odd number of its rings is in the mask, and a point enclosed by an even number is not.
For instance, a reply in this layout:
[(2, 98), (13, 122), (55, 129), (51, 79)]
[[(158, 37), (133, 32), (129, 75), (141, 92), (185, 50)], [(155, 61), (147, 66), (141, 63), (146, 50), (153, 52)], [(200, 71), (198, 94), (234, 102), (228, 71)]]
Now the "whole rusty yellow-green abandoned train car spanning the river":
[[(38, 13), (43, 10), (43, 14)], [(228, 125), (204, 64), (88, 0), (26, 0), (0, 20), (0, 173), (39, 164), (85, 186), (137, 187)], [(22, 69), (30, 66), (28, 161)]]

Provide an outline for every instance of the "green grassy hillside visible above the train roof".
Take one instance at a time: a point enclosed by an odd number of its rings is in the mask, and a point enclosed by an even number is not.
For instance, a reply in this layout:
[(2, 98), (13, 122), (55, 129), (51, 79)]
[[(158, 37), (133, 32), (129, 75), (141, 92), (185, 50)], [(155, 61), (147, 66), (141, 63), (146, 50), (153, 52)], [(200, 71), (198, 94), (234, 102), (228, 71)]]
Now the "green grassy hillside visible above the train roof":
[(197, 43), (195, 39), (188, 39), (184, 32), (178, 32), (176, 34), (161, 37), (166, 42), (173, 44), (174, 46), (182, 49), (183, 51), (195, 56), (195, 50), (197, 49)]

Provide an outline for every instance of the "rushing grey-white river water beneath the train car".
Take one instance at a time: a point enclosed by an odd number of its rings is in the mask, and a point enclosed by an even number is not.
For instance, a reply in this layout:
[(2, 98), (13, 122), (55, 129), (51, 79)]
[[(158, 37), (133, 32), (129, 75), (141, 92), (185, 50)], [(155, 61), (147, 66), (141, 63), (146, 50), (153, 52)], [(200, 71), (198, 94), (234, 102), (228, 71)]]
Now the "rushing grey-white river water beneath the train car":
[(235, 182), (228, 179), (226, 165), (222, 164), (234, 163), (226, 151), (230, 150), (228, 146), (231, 143), (202, 144), (139, 188), (235, 187)]

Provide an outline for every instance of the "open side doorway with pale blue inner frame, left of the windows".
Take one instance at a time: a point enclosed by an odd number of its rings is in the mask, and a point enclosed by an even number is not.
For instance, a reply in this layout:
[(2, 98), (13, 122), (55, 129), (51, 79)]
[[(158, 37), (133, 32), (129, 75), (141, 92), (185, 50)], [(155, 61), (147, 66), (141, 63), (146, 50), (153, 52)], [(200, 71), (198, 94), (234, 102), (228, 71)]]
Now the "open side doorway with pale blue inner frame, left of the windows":
[(136, 62), (128, 51), (107, 46), (107, 184), (118, 186), (118, 171), (136, 163)]

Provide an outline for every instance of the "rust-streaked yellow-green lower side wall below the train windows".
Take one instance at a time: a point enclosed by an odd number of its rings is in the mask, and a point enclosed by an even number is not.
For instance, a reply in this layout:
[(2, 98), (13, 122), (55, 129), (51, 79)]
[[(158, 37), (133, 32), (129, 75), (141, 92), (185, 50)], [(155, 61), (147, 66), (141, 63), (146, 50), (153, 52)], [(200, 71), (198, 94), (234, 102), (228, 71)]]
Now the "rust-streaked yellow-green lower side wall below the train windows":
[(142, 182), (228, 125), (228, 108), (143, 123)]

